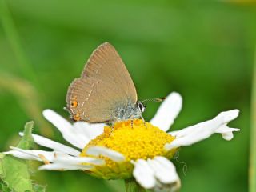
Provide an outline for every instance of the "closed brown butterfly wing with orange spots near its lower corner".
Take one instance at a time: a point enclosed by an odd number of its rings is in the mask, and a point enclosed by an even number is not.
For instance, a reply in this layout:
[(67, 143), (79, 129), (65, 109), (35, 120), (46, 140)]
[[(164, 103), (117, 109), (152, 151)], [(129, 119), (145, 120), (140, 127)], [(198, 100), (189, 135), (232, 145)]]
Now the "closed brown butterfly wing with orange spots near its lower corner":
[(118, 106), (137, 102), (134, 82), (118, 52), (109, 42), (91, 54), (81, 78), (74, 79), (66, 95), (75, 121), (110, 122)]

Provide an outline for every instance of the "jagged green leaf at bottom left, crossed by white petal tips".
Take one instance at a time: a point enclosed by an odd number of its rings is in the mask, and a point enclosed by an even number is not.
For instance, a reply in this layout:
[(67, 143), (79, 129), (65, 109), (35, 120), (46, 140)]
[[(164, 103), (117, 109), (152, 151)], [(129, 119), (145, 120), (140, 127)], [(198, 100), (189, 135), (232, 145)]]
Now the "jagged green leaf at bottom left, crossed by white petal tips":
[[(34, 140), (31, 135), (33, 126), (33, 122), (26, 123), (23, 132), (24, 136), (18, 143), (19, 148), (28, 150), (34, 146)], [(43, 186), (38, 186), (31, 182), (28, 162), (11, 155), (0, 154), (0, 178), (2, 191), (8, 191), (9, 189), (15, 192), (45, 191)]]

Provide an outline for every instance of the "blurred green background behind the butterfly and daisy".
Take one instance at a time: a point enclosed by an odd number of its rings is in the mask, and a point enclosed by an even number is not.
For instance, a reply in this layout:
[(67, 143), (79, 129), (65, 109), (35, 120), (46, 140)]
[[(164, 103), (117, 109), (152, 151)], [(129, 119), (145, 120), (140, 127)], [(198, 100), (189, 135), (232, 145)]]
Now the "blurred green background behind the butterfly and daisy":
[[(175, 162), (181, 191), (247, 191), (250, 87), (256, 34), (255, 1), (4, 1), (0, 0), (0, 151), (18, 142), (25, 122), (34, 132), (64, 142), (42, 118), (63, 110), (66, 90), (92, 50), (111, 42), (138, 90), (158, 98), (171, 91), (184, 102), (173, 130), (238, 108), (230, 126), (234, 140), (220, 135), (183, 147)], [(150, 120), (158, 103), (147, 106)], [(34, 175), (48, 191), (122, 191), (123, 183), (80, 171)]]

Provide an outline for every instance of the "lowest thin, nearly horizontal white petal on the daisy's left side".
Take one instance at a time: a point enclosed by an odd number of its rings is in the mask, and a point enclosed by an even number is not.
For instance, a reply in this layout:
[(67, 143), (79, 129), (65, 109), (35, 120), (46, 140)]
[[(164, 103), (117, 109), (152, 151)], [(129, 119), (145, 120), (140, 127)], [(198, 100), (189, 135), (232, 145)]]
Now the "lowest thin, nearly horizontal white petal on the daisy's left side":
[(39, 170), (92, 170), (94, 166), (87, 165), (70, 165), (65, 163), (50, 163), (40, 166)]

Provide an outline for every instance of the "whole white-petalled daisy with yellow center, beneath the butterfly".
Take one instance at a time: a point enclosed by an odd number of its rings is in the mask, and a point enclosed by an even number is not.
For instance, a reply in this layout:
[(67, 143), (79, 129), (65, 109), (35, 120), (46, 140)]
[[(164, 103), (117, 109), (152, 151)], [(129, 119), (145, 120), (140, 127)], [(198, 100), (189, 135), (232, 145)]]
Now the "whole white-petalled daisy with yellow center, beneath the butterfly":
[(71, 124), (53, 110), (44, 110), (44, 117), (73, 147), (33, 134), (34, 142), (51, 151), (11, 147), (6, 154), (41, 161), (44, 165), (39, 170), (83, 170), (97, 178), (134, 178), (144, 189), (178, 190), (180, 179), (170, 159), (181, 146), (190, 146), (214, 133), (229, 141), (234, 137), (233, 131), (239, 130), (227, 126), (239, 112), (229, 110), (206, 122), (166, 132), (181, 108), (182, 97), (171, 93), (150, 122), (126, 120), (115, 122), (112, 127), (103, 123)]

